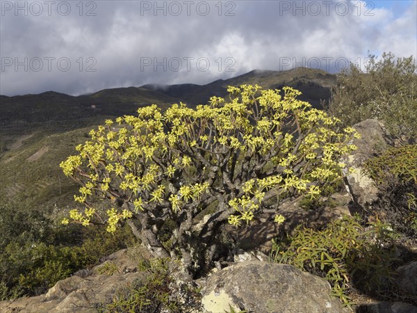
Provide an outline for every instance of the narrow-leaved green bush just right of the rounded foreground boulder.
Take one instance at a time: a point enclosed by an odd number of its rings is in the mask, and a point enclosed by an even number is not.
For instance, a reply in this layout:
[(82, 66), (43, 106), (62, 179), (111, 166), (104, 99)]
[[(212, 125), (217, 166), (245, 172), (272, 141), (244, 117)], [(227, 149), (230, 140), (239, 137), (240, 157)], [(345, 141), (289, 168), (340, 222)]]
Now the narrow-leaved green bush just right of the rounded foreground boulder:
[(271, 259), (291, 264), (325, 278), (332, 285), (332, 295), (343, 305), (353, 304), (353, 288), (378, 291), (393, 274), (395, 261), (390, 247), (393, 233), (380, 222), (364, 232), (361, 219), (345, 217), (325, 230), (297, 227), (288, 242), (273, 241)]

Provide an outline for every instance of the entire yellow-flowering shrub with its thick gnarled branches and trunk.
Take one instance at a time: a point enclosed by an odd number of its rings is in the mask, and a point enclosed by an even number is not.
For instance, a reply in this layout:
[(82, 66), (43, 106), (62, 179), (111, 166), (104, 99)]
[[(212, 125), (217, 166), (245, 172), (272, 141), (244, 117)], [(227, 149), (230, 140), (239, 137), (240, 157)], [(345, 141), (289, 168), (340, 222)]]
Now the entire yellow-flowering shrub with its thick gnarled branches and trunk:
[[(228, 90), (229, 102), (211, 97), (197, 109), (174, 104), (165, 113), (147, 106), (92, 130), (60, 164), (81, 185), (74, 198), (85, 206), (63, 223), (115, 232), (126, 220), (154, 256), (181, 257), (193, 275), (211, 266), (220, 225), (249, 223), (268, 200), (317, 197), (340, 178), (354, 129), (335, 131), (338, 120), (298, 100), (292, 88), (284, 97), (260, 86)], [(113, 207), (99, 209), (97, 199)], [(214, 202), (210, 218), (198, 220)], [(163, 244), (158, 234), (168, 219), (175, 229)]]

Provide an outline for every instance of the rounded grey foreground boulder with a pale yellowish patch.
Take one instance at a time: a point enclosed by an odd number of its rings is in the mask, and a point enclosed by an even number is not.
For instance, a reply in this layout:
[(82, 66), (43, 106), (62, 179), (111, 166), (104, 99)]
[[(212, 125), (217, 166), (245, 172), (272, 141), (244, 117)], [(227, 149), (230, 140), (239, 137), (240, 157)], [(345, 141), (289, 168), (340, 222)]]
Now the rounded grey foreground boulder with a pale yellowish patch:
[(204, 312), (349, 312), (330, 296), (328, 282), (286, 264), (249, 261), (223, 268), (205, 281)]

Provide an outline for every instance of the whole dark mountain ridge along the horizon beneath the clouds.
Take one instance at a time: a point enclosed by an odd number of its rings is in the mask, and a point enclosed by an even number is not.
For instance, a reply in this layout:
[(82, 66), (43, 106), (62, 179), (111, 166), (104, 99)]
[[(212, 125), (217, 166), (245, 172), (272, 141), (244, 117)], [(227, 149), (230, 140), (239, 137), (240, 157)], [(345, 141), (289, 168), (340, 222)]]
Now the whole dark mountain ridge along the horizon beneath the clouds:
[(138, 107), (149, 104), (157, 104), (162, 109), (180, 101), (190, 106), (205, 104), (213, 95), (226, 96), (227, 86), (255, 83), (263, 88), (274, 89), (292, 86), (302, 91), (300, 99), (320, 107), (320, 102), (329, 99), (336, 76), (322, 70), (299, 67), (282, 72), (254, 70), (202, 86), (192, 83), (166, 86), (152, 84), (104, 89), (78, 97), (54, 91), (39, 95), (0, 96), (0, 127), (1, 131), (38, 127), (65, 131), (97, 124), (104, 117), (134, 114)]

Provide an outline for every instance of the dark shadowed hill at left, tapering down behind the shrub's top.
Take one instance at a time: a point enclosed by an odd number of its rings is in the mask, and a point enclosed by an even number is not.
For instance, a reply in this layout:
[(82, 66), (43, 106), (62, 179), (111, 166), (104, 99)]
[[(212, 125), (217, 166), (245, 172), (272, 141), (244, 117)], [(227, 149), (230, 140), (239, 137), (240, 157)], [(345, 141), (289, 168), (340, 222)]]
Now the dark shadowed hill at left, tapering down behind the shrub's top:
[(134, 114), (139, 106), (158, 104), (166, 108), (178, 102), (158, 91), (145, 88), (105, 89), (74, 97), (49, 91), (39, 95), (0, 96), (1, 131), (48, 127), (74, 129), (94, 124), (103, 116)]

